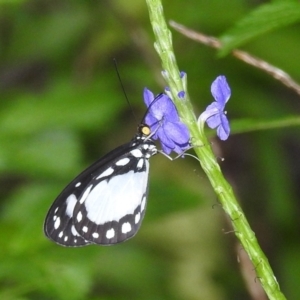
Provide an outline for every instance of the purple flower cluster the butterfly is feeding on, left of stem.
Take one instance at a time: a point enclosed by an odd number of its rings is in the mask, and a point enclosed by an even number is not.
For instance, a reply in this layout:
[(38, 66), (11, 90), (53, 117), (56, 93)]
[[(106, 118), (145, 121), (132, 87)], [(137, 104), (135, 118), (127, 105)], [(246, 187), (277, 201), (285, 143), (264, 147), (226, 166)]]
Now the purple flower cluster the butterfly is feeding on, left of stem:
[(160, 140), (164, 153), (174, 151), (181, 154), (190, 145), (190, 133), (186, 125), (181, 123), (172, 100), (165, 94), (154, 97), (145, 88), (144, 102), (148, 108), (145, 123), (151, 128), (152, 138)]

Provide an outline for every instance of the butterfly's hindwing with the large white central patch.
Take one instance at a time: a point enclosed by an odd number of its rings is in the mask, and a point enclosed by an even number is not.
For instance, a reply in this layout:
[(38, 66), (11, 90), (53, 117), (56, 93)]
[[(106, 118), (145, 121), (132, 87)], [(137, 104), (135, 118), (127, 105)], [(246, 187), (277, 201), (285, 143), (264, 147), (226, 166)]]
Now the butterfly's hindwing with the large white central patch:
[[(111, 168), (115, 175), (105, 176)], [(145, 214), (148, 174), (147, 159), (127, 156), (95, 176), (74, 209), (73, 221), (80, 236), (103, 245), (134, 236)]]

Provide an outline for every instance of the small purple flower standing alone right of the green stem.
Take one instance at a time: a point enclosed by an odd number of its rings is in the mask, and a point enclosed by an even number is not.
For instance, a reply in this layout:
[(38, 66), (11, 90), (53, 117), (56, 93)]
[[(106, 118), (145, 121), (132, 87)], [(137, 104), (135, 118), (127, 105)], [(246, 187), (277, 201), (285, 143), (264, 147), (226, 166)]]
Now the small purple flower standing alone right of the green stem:
[(217, 128), (218, 137), (225, 141), (230, 133), (226, 116), (225, 104), (230, 98), (231, 91), (225, 76), (218, 76), (211, 85), (211, 93), (216, 101), (208, 105), (200, 116), (200, 122), (206, 121), (208, 127)]

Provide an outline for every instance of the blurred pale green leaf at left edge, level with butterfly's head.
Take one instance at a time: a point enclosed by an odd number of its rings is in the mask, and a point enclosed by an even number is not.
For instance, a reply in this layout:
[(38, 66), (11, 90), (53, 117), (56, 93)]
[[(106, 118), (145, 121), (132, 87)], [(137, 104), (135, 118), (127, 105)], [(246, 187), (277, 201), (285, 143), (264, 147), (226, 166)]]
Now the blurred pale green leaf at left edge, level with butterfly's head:
[[(81, 141), (70, 131), (46, 131), (11, 139), (0, 135), (0, 170), (25, 176), (63, 178), (80, 169)], [(22, 149), (20, 151), (20, 149)]]

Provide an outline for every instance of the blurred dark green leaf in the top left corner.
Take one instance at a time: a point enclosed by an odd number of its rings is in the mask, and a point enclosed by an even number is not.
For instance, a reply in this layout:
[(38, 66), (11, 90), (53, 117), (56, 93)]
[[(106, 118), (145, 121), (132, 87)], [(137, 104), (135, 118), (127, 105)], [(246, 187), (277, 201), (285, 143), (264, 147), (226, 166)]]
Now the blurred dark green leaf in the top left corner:
[(8, 44), (9, 59), (51, 58), (57, 61), (69, 53), (84, 38), (89, 16), (83, 7), (61, 10), (54, 14), (19, 12), (15, 19), (15, 34)]

